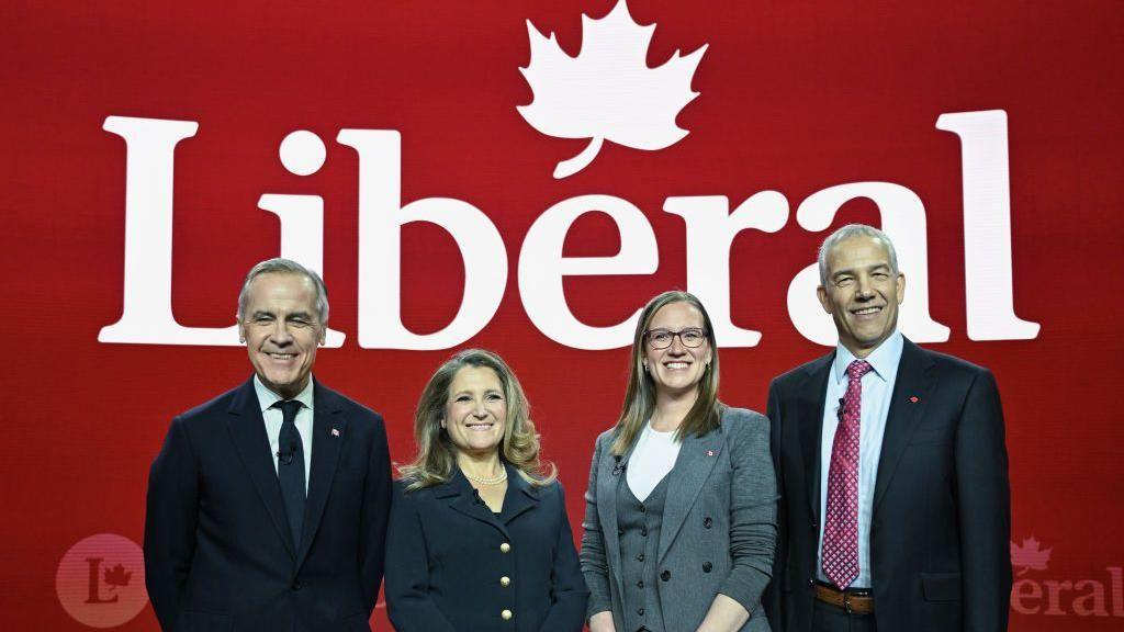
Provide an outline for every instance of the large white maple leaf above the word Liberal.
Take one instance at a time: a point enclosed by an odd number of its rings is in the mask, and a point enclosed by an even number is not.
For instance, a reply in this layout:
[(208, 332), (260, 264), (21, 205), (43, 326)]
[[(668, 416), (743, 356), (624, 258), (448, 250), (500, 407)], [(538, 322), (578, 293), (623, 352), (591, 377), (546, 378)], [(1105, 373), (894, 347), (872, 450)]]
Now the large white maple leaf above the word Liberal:
[(655, 151), (687, 136), (676, 116), (699, 96), (691, 90), (691, 78), (707, 48), (704, 44), (686, 56), (676, 51), (663, 65), (647, 67), (655, 25), (633, 21), (625, 0), (599, 20), (582, 15), (581, 31), (581, 52), (571, 57), (554, 33), (544, 37), (527, 20), (531, 62), (519, 72), (534, 100), (516, 109), (547, 136), (590, 138), (580, 154), (554, 168), (556, 179), (589, 165), (605, 141)]

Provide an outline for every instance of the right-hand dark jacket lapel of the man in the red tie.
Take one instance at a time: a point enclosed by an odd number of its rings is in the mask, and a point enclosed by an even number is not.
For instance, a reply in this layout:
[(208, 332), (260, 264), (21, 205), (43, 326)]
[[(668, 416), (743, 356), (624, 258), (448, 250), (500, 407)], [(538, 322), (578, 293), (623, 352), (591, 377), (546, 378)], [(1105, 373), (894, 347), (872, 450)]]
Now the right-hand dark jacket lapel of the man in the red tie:
[[(890, 410), (886, 415), (882, 452), (878, 458), (872, 512), (878, 512), (878, 504), (886, 495), (886, 488), (894, 478), (901, 453), (905, 452), (909, 437), (917, 428), (917, 422), (921, 421), (936, 386), (933, 360), (916, 344), (908, 340), (903, 342), (898, 377), (894, 382), (894, 394), (890, 396)], [(916, 404), (909, 400), (915, 396), (918, 397)]]

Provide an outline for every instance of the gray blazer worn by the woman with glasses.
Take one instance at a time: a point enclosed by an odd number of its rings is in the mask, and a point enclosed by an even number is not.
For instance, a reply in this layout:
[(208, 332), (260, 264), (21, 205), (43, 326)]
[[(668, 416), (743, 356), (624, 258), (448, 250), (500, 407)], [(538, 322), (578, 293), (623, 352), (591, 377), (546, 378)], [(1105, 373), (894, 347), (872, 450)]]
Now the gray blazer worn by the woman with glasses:
[[(616, 487), (632, 450), (614, 457), (613, 439), (614, 430), (601, 433), (593, 451), (581, 570), (592, 593), (588, 614), (611, 610), (617, 630), (623, 631)], [(683, 440), (668, 476), (656, 560), (664, 629), (696, 630), (722, 593), (750, 612), (742, 630), (768, 631), (760, 601), (771, 578), (777, 540), (769, 419), (752, 410), (727, 408), (717, 430)]]

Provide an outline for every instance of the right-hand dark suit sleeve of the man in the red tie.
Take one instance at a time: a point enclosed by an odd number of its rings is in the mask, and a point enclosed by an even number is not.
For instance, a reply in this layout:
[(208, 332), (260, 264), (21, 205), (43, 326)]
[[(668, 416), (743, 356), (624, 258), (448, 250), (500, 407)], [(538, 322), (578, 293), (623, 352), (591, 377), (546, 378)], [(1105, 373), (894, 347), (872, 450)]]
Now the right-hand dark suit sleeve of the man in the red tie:
[(969, 387), (957, 431), (966, 631), (1007, 630), (1010, 604), (1010, 487), (999, 390), (990, 371)]

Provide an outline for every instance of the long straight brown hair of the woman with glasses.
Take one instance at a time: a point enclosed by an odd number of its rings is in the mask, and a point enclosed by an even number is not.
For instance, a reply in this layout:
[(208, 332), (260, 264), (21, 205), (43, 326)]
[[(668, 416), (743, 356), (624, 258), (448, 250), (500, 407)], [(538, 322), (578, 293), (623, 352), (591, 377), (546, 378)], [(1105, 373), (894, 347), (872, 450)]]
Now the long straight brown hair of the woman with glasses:
[(644, 345), (647, 344), (647, 328), (655, 313), (673, 303), (686, 303), (703, 315), (703, 328), (707, 344), (710, 345), (710, 365), (704, 369), (703, 379), (698, 385), (698, 397), (695, 405), (676, 431), (676, 439), (682, 441), (690, 434), (701, 436), (722, 425), (722, 413), (726, 405), (718, 400), (718, 343), (714, 337), (714, 326), (710, 316), (695, 295), (680, 290), (663, 292), (647, 301), (636, 323), (633, 336), (633, 350), (629, 355), (628, 388), (625, 389), (625, 401), (617, 419), (611, 452), (624, 454), (640, 436), (644, 424), (655, 410), (655, 382), (644, 370)]

